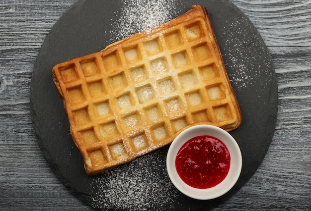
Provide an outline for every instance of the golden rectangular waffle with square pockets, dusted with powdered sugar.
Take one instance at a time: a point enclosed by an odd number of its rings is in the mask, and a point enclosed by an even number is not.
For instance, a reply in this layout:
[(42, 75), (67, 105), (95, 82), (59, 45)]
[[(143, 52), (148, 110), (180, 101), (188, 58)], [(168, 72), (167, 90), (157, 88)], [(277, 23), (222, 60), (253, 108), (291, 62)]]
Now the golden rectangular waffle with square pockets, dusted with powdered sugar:
[(101, 52), (57, 64), (53, 80), (89, 175), (163, 147), (189, 126), (231, 131), (241, 122), (199, 5)]

